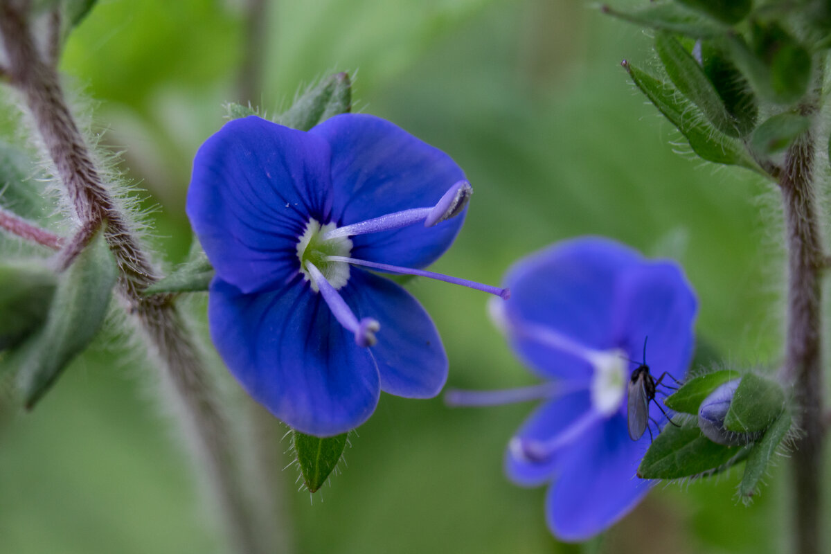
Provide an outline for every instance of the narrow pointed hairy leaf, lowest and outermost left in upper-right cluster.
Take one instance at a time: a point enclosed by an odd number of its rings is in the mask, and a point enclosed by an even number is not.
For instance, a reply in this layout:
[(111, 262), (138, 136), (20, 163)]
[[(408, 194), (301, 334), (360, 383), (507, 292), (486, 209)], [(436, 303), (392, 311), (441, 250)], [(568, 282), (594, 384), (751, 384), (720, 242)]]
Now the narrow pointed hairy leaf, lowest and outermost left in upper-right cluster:
[(706, 123), (701, 110), (681, 96), (675, 87), (657, 80), (627, 61), (623, 61), (622, 65), (629, 72), (635, 85), (666, 116), (666, 119), (681, 131), (681, 134), (690, 142), (692, 150), (701, 158), (716, 164), (741, 165), (764, 174), (750, 159), (739, 141), (731, 139)]

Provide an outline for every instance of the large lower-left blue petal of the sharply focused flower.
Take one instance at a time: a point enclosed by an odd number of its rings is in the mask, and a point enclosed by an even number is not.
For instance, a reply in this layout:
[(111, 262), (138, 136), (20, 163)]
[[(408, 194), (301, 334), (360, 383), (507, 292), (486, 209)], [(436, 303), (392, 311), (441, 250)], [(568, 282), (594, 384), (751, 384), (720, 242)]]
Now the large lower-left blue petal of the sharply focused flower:
[(375, 409), (380, 385), (370, 352), (355, 344), (299, 278), (255, 294), (214, 279), (208, 316), (211, 338), (231, 373), (293, 429), (345, 433)]

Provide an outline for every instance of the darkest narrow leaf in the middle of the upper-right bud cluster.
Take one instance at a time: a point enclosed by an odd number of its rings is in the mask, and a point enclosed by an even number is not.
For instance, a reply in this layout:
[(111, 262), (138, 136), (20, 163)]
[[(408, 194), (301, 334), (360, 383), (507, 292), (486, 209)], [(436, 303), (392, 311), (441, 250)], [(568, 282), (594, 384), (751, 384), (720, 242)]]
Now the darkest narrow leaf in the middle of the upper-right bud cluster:
[(748, 135), (759, 117), (759, 101), (750, 83), (730, 61), (723, 48), (713, 41), (701, 41), (701, 66), (719, 93), (727, 112), (733, 116), (740, 135)]

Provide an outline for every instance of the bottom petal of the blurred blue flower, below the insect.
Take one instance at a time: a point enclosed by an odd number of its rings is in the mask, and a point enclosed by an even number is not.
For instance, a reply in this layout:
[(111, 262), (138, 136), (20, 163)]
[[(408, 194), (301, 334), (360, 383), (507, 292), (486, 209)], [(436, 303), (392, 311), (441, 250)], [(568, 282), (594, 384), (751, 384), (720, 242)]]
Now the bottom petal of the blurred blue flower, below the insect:
[(585, 434), (548, 491), (551, 532), (563, 541), (585, 541), (630, 512), (652, 484), (635, 475), (647, 446), (629, 439), (620, 414)]

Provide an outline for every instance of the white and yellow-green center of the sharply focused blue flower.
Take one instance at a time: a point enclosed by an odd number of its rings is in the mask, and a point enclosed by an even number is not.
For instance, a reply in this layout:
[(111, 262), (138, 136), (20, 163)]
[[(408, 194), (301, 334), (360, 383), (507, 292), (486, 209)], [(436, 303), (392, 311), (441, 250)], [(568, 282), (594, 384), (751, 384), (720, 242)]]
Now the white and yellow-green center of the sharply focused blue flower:
[(329, 256), (349, 257), (352, 253), (352, 241), (348, 237), (323, 239), (323, 236), (337, 228), (335, 223), (321, 226), (316, 219), (309, 219), (306, 230), (297, 241), (297, 260), (303, 279), (312, 283), (312, 291), (318, 292), (317, 283), (306, 268), (306, 262), (312, 262), (336, 290), (349, 282), (349, 264), (347, 262), (330, 262)]

